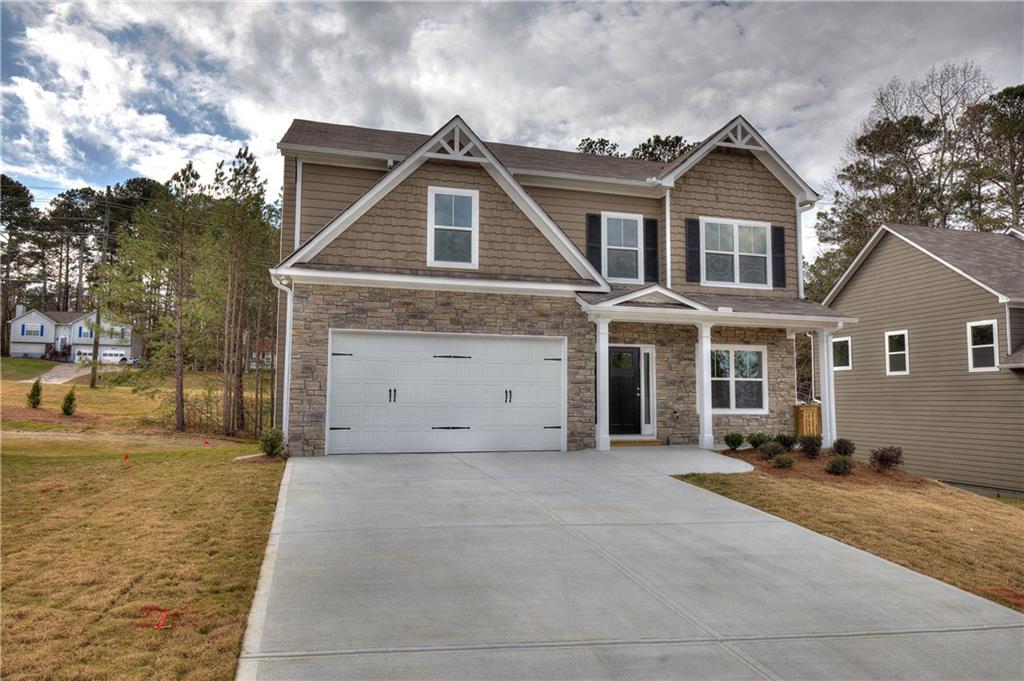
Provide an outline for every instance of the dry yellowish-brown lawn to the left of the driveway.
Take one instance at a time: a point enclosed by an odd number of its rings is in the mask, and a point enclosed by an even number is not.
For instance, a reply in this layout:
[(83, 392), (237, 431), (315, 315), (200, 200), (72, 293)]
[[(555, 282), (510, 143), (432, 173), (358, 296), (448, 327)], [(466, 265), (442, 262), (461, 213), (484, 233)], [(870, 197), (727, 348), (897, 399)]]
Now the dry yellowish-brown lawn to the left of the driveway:
[(209, 441), (4, 433), (4, 679), (232, 677), (283, 466)]

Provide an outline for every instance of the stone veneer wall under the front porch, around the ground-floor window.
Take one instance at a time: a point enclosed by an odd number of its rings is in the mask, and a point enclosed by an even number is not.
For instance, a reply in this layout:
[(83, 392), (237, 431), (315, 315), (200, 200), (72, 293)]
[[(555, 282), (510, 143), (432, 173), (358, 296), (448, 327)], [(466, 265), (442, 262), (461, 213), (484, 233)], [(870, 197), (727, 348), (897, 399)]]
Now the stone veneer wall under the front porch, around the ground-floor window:
[[(610, 345), (653, 345), (657, 376), (657, 437), (675, 443), (695, 443), (699, 431), (696, 409), (695, 356), (697, 332), (691, 326), (612, 322)], [(712, 428), (715, 440), (732, 430), (742, 433), (793, 431), (793, 406), (797, 399), (794, 344), (776, 329), (712, 329), (712, 344), (764, 345), (768, 351), (768, 411), (765, 416), (717, 415)], [(673, 412), (679, 412), (678, 418)]]

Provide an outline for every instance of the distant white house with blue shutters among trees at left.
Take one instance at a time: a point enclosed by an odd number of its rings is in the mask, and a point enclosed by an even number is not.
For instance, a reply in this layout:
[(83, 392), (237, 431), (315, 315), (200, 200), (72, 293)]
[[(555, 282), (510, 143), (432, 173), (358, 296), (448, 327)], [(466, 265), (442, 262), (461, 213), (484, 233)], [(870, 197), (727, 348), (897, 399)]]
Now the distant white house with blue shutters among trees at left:
[[(26, 310), (17, 306), (10, 321), (10, 356), (43, 357), (61, 361), (92, 359), (96, 313)], [(99, 360), (127, 363), (132, 352), (132, 329), (122, 324), (102, 324)]]

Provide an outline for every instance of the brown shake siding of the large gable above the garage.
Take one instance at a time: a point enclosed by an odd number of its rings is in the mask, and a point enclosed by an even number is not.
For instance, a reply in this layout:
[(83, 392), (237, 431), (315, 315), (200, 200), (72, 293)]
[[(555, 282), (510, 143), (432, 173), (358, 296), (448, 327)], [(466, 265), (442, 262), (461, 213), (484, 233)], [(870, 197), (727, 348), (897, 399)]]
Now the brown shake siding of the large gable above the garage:
[[(478, 195), (478, 266), (428, 266), (428, 188)], [(580, 274), (478, 164), (430, 160), (313, 255), (317, 268), (577, 282)]]

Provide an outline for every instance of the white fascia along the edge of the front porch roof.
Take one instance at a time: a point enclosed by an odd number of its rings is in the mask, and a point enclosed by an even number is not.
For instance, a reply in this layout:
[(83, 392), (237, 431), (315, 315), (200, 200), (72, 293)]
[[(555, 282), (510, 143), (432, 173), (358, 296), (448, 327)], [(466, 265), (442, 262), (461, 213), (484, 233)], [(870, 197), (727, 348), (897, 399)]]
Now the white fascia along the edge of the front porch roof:
[[(578, 298), (577, 300), (582, 300)], [(727, 327), (761, 327), (778, 329), (819, 329), (838, 331), (857, 317), (819, 316), (815, 314), (774, 314), (769, 312), (719, 312), (717, 310), (652, 309), (649, 307), (599, 307), (582, 304), (592, 320), (608, 322), (646, 322), (650, 324), (711, 324)]]

